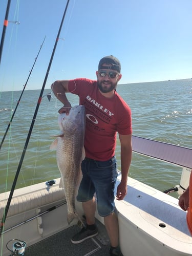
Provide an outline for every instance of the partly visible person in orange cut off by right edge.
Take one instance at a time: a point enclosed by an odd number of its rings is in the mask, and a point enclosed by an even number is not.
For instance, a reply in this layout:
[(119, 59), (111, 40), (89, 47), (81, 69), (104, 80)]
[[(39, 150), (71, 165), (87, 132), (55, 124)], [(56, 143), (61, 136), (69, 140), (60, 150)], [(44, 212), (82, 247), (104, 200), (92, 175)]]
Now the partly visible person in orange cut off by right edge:
[(192, 172), (190, 173), (189, 186), (179, 198), (179, 206), (187, 210), (187, 226), (192, 236)]

